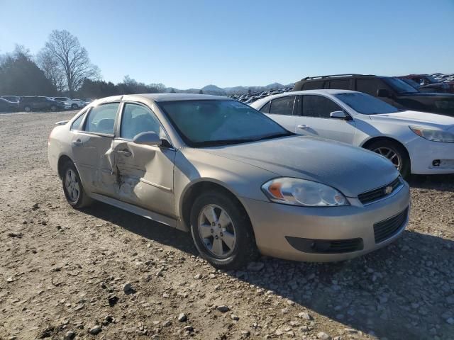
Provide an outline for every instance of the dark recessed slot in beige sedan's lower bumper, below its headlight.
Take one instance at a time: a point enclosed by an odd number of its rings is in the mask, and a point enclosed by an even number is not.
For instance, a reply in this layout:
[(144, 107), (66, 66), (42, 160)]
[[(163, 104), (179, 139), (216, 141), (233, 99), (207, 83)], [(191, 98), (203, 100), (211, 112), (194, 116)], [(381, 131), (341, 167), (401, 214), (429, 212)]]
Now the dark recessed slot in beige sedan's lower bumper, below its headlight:
[(312, 254), (341, 254), (364, 249), (362, 239), (303, 239), (285, 237), (289, 244), (299, 251)]

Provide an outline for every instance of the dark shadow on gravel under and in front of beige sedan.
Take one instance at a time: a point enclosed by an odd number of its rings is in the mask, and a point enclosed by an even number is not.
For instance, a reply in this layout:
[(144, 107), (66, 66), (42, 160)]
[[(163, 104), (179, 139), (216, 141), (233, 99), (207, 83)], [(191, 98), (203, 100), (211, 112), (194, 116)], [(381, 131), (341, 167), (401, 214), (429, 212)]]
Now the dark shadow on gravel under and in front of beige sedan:
[[(178, 229), (104, 203), (96, 203), (84, 212), (145, 239), (198, 254), (190, 235)], [(333, 327), (341, 330), (358, 329), (389, 340), (436, 339), (435, 336), (452, 339), (453, 251), (454, 242), (450, 239), (406, 230), (397, 242), (350, 261), (303, 263), (262, 257), (259, 261), (264, 266), (260, 271), (255, 271), (256, 267), (227, 273), (255, 285), (256, 293), (265, 295), (264, 299), (272, 293), (292, 301), (287, 304), (279, 299), (274, 312), (288, 312), (289, 321), (299, 321), (302, 326), (306, 323), (309, 329), (313, 325), (297, 317), (301, 310), (294, 310), (294, 305), (306, 308), (315, 321), (315, 314), (333, 319), (340, 324)], [(272, 302), (265, 302), (263, 307), (270, 307)], [(341, 334), (336, 330), (330, 335)], [(358, 334), (349, 336), (355, 339)]]

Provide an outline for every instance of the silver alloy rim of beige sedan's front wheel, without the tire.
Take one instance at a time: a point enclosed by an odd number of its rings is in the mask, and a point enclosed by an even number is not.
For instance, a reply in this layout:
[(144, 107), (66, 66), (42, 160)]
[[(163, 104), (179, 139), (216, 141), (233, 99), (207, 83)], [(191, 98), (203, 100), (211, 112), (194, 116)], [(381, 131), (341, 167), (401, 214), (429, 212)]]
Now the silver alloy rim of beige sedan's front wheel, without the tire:
[(206, 205), (199, 214), (199, 235), (206, 250), (214, 256), (225, 259), (235, 249), (235, 226), (226, 210), (218, 205)]

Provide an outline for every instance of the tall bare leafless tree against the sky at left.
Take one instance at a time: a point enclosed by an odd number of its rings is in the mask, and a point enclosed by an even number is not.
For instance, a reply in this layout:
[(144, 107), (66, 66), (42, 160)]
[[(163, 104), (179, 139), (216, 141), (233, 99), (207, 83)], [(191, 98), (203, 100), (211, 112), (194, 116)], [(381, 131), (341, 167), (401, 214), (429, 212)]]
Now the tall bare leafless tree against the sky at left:
[(65, 74), (65, 82), (70, 96), (82, 86), (85, 79), (99, 78), (99, 68), (90, 62), (88, 52), (79, 39), (67, 30), (52, 30), (44, 50), (57, 60)]

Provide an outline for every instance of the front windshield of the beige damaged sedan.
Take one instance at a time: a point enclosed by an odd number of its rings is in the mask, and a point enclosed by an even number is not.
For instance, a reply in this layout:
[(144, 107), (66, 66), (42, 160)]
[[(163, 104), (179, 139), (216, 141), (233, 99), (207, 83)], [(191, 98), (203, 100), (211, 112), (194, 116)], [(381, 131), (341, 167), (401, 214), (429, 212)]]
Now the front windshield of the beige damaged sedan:
[(294, 135), (238, 101), (167, 101), (158, 104), (191, 147), (233, 145)]

